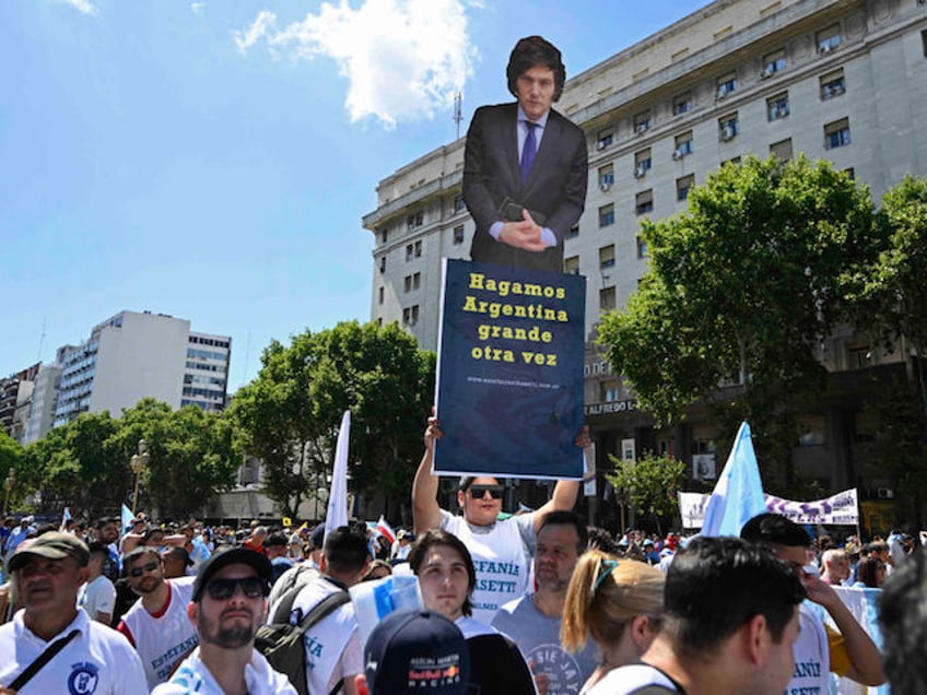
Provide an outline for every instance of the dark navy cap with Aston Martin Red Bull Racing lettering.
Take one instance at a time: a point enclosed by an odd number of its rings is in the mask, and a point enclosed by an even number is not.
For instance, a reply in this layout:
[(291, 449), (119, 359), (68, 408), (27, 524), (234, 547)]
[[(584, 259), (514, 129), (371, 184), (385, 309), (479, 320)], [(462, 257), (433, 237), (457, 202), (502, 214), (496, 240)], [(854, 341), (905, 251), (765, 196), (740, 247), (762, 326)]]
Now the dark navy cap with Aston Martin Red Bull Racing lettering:
[(454, 623), (432, 611), (387, 615), (371, 633), (364, 661), (371, 695), (467, 692), (467, 641)]

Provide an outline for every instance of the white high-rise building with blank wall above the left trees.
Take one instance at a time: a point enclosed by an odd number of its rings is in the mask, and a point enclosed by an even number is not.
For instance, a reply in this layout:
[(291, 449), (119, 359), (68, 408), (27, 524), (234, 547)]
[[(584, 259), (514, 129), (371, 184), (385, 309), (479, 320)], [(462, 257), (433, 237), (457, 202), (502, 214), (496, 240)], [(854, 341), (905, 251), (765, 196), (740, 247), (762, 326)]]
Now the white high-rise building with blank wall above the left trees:
[(151, 397), (174, 409), (222, 410), (232, 339), (195, 333), (164, 314), (120, 311), (95, 326), (80, 345), (58, 350), (61, 369), (52, 426), (83, 412), (109, 411)]

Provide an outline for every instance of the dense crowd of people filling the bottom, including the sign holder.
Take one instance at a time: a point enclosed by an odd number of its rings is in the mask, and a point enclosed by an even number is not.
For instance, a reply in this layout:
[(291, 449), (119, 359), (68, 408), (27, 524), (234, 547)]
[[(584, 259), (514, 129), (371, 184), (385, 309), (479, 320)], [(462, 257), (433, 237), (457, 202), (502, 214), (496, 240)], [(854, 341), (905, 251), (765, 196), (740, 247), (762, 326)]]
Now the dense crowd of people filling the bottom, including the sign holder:
[[(436, 498), (439, 437), (430, 421), (395, 538), (145, 515), (7, 525), (0, 693), (825, 693), (832, 673), (927, 692), (915, 539), (812, 540), (774, 514), (739, 539), (614, 537), (573, 510), (572, 481), (506, 516), (504, 481), (464, 478), (456, 514)], [(883, 652), (835, 591), (881, 575)], [(420, 609), (362, 635), (350, 590), (395, 576), (416, 578)], [(281, 626), (298, 629), (295, 671), (263, 648)]]

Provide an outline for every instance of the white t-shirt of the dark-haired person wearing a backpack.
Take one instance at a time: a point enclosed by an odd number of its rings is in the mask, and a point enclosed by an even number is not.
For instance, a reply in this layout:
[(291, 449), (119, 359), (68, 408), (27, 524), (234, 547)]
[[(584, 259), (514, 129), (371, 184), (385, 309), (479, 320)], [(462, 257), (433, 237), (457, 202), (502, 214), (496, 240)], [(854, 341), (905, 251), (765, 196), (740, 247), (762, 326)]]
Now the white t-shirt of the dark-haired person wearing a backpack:
[[(290, 622), (296, 624), (327, 596), (340, 587), (327, 577), (306, 585), (293, 601)], [(357, 617), (351, 601), (339, 605), (306, 631), (306, 681), (310, 693), (330, 693), (342, 678), (364, 672), (364, 646), (357, 634)]]

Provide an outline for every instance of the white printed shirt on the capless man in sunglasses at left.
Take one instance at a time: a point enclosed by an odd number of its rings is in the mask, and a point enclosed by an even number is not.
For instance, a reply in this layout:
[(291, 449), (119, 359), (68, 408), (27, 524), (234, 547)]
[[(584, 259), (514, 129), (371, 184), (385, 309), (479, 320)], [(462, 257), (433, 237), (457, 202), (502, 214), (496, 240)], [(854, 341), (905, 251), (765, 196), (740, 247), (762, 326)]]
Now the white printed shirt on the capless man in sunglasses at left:
[(120, 632), (129, 637), (142, 659), (149, 690), (166, 681), (174, 665), (199, 644), (197, 631), (187, 616), (193, 579), (165, 579), (171, 592), (159, 613), (149, 613), (139, 600), (122, 617)]

